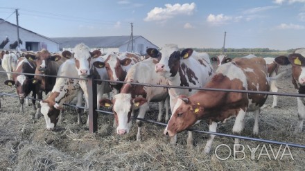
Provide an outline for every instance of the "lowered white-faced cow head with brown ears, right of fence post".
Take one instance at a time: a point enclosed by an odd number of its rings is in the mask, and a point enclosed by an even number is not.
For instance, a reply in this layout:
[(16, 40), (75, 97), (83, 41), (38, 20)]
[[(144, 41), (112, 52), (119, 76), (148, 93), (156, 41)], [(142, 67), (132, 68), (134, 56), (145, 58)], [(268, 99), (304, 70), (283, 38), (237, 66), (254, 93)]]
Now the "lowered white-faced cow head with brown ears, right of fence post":
[(130, 131), (130, 117), (132, 107), (139, 107), (143, 105), (146, 98), (131, 98), (131, 94), (119, 93), (114, 96), (114, 100), (102, 99), (100, 105), (102, 107), (112, 107), (114, 113), (114, 120), (116, 122), (116, 133), (119, 135), (128, 134)]

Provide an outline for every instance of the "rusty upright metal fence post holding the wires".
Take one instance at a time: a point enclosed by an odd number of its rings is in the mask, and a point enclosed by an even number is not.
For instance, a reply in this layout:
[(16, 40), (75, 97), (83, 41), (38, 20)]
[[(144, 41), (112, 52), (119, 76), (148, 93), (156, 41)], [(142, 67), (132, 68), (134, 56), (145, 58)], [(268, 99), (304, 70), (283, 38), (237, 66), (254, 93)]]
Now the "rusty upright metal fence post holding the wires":
[(88, 117), (89, 117), (89, 132), (94, 133), (98, 131), (98, 113), (97, 107), (97, 92), (96, 81), (94, 75), (88, 77)]

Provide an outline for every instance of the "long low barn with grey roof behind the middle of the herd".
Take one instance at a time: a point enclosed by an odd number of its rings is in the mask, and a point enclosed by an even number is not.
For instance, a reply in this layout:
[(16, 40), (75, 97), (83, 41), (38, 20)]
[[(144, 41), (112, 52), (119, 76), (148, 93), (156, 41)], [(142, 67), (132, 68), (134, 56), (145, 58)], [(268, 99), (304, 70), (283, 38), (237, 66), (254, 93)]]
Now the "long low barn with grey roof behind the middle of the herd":
[[(76, 44), (84, 43), (90, 51), (99, 49), (102, 53), (132, 51), (130, 36), (103, 36), (103, 37), (53, 37), (60, 43), (60, 51), (73, 51)], [(133, 52), (146, 54), (146, 48), (158, 48), (141, 35), (133, 36)]]

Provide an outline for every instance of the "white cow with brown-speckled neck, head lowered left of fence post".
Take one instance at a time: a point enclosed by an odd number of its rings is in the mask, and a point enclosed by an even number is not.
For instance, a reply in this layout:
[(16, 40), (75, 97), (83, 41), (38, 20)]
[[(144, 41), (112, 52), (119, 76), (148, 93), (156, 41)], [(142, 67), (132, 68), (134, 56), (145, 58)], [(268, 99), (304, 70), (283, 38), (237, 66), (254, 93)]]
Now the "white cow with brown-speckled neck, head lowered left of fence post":
[[(56, 78), (55, 85), (49, 96), (40, 102), (41, 112), (46, 120), (46, 129), (51, 130), (60, 123), (60, 111), (65, 102), (70, 102), (77, 96), (77, 106), (82, 105), (82, 90), (78, 84), (78, 73), (74, 59), (66, 60), (58, 69), (58, 76), (69, 76), (71, 78)], [(82, 123), (82, 111), (78, 112), (78, 124)]]

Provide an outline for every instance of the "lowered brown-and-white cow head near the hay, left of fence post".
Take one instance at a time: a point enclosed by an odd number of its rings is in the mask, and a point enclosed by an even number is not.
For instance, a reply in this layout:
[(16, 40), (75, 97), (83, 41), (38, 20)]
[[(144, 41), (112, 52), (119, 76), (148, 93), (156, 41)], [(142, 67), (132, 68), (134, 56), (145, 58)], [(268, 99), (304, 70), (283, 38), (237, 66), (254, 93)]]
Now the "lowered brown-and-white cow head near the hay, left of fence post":
[(60, 110), (62, 107), (59, 107), (58, 104), (52, 100), (42, 100), (40, 105), (41, 112), (44, 115), (44, 119), (46, 120), (46, 129), (54, 129), (58, 123), (58, 118), (60, 116)]

